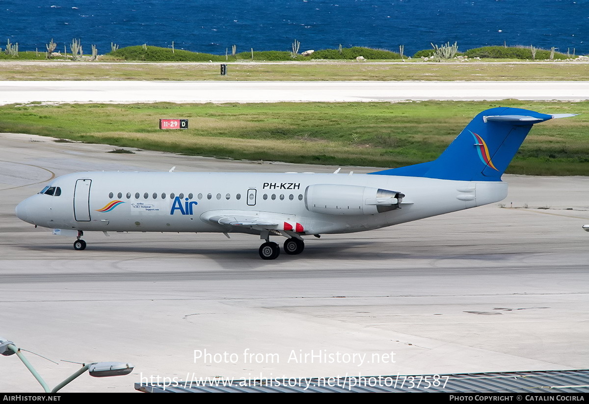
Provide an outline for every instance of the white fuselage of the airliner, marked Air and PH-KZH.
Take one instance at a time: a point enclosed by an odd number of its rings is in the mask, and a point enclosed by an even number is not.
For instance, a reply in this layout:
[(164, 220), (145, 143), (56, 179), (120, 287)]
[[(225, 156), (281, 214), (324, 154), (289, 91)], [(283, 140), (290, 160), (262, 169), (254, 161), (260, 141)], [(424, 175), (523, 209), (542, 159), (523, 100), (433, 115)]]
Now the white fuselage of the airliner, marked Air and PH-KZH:
[[(317, 184), (378, 188), (404, 197), (400, 208), (382, 213), (370, 213), (369, 198), (363, 199), (366, 206), (360, 210), (338, 210), (341, 207), (336, 206), (330, 213), (321, 213), (309, 208), (306, 193), (307, 187)], [(60, 188), (59, 196), (29, 197), (16, 208), (17, 216), (52, 229), (259, 234), (252, 228), (228, 230), (211, 223), (209, 218), (219, 213), (300, 224), (302, 231), (298, 233), (305, 235), (378, 229), (494, 203), (507, 196), (507, 184), (501, 181), (340, 173), (88, 172), (64, 175), (50, 185)], [(331, 198), (337, 205), (340, 196)]]

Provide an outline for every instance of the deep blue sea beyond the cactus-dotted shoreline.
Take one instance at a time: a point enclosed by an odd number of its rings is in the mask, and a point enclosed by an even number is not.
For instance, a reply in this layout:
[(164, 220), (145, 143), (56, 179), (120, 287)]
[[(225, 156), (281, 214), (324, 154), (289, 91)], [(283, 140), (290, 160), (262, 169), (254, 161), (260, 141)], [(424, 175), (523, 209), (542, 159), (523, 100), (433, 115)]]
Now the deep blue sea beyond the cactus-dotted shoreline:
[[(589, 0), (0, 0), (0, 46), (57, 49), (80, 38), (110, 51), (155, 45), (224, 54), (366, 46), (405, 54), (430, 42), (458, 42), (459, 50), (485, 45), (575, 48), (589, 53)], [(68, 52), (70, 48), (68, 47)]]

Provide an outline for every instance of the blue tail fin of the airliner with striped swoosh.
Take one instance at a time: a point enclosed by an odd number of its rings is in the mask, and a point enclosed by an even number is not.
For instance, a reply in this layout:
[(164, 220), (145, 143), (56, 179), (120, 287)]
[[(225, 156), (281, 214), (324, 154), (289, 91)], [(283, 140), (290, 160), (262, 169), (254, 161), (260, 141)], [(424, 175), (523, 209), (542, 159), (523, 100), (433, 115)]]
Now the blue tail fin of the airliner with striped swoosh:
[(491, 108), (478, 114), (436, 160), (371, 174), (459, 181), (500, 181), (532, 125), (574, 114)]

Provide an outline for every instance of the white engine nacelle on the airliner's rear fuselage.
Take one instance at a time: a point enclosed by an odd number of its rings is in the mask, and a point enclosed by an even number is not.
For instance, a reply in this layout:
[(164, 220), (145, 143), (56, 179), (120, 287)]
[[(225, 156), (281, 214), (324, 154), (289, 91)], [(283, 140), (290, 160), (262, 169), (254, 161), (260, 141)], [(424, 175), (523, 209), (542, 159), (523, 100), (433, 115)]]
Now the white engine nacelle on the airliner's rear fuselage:
[(403, 197), (398, 191), (379, 188), (316, 184), (305, 190), (305, 207), (323, 214), (376, 214), (399, 209)]

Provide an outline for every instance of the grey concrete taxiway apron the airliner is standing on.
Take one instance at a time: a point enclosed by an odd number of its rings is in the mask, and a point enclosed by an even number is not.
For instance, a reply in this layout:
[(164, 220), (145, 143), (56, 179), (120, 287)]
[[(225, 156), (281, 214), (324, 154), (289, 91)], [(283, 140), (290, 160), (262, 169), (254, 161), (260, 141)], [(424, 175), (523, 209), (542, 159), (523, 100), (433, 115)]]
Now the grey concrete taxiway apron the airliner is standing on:
[[(74, 251), (72, 239), (14, 216), (54, 175), (337, 167), (110, 154), (112, 146), (35, 135), (0, 134), (0, 143), (0, 335), (56, 361), (135, 365), (124, 377), (82, 375), (64, 392), (132, 392), (158, 375), (419, 375), (589, 363), (587, 177), (505, 175), (505, 206), (312, 237), (300, 256), (275, 261), (260, 260), (260, 240), (247, 235), (87, 233), (88, 248)], [(223, 353), (237, 360), (214, 360)], [(366, 356), (329, 362), (322, 353)], [(52, 386), (77, 369), (25, 355)], [(0, 374), (12, 375), (0, 377), (0, 390), (41, 391), (16, 356), (0, 357)]]

